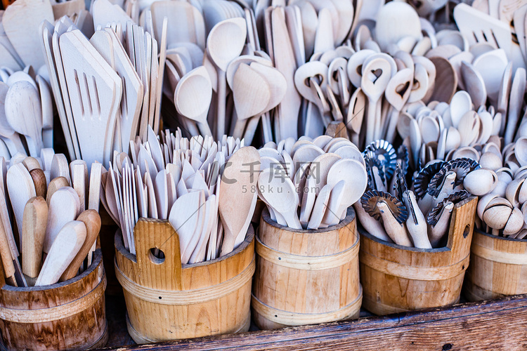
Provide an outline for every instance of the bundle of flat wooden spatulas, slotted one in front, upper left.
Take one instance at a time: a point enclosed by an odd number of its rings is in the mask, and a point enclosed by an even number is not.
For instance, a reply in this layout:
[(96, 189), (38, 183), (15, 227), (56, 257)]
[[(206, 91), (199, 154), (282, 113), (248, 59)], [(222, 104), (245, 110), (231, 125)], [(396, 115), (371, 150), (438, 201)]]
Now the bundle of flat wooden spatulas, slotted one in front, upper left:
[(67, 16), (39, 28), (67, 150), (88, 164), (108, 164), (112, 150), (128, 152), (160, 126), (166, 25), (159, 50), (151, 21), (145, 30), (122, 10), (110, 20), (117, 8), (94, 1), (90, 39)]

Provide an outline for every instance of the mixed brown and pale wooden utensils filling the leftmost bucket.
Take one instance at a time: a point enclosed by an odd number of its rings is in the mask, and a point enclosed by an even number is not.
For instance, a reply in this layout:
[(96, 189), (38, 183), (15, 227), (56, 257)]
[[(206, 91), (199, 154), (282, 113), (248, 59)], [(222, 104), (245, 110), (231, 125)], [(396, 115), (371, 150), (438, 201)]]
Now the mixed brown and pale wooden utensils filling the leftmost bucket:
[(0, 168), (0, 256), (8, 284), (55, 284), (89, 267), (100, 230), (102, 164), (88, 173), (86, 162), (68, 165), (64, 154), (42, 149), (41, 157), (13, 158), (9, 167), (0, 157)]

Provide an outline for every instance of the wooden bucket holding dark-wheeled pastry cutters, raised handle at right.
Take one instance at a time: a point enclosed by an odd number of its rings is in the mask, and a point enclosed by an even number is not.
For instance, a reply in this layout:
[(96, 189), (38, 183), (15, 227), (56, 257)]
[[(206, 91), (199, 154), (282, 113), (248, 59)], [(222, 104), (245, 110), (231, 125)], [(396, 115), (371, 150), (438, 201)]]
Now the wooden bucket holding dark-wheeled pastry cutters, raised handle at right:
[(469, 197), (455, 205), (447, 246), (439, 249), (389, 244), (360, 228), (363, 307), (390, 314), (457, 303), (469, 267), (477, 204), (477, 197)]

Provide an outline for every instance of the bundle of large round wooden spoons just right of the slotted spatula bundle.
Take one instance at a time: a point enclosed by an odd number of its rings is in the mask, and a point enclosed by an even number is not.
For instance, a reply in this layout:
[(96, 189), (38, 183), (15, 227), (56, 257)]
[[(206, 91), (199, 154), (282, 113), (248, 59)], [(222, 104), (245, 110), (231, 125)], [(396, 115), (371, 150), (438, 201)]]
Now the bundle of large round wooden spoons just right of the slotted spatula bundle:
[[(287, 82), (260, 50), (252, 11), (223, 0), (205, 1), (200, 10), (183, 1), (150, 7), (156, 33), (170, 14), (163, 91), (174, 102), (176, 119), (190, 135), (219, 139), (228, 133), (249, 144), (261, 119), (263, 138), (273, 140), (269, 112), (287, 96)], [(289, 127), (296, 138), (296, 126)]]

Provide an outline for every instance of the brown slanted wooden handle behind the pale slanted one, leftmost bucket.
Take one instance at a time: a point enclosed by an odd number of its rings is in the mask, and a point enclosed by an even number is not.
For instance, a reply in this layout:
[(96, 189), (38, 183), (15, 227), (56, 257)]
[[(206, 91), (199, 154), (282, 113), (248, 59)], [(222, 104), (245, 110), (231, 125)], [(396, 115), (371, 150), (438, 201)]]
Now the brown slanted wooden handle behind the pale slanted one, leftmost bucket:
[(60, 276), (59, 282), (65, 282), (77, 275), (79, 267), (81, 267), (84, 258), (86, 258), (86, 255), (90, 252), (91, 246), (93, 246), (99, 235), (100, 216), (97, 211), (86, 210), (79, 215), (77, 221), (81, 221), (86, 226), (86, 239), (70, 265), (67, 266), (66, 270)]

